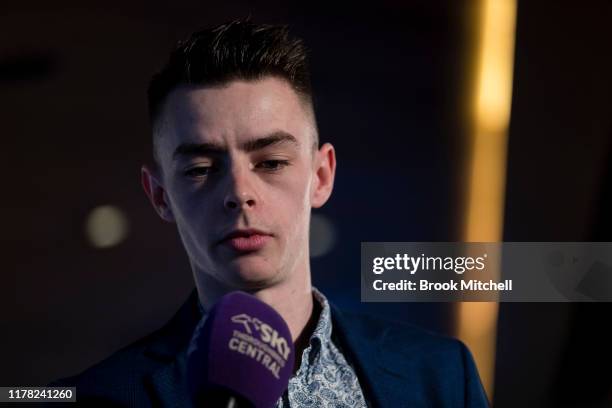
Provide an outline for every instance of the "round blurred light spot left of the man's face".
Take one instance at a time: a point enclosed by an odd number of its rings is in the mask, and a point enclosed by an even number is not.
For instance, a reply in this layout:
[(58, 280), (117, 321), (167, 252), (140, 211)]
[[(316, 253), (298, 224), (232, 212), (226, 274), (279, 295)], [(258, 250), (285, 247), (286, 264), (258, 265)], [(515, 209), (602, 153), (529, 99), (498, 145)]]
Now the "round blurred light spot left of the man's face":
[(128, 233), (128, 220), (119, 208), (104, 205), (87, 216), (85, 232), (95, 248), (110, 248), (121, 243)]

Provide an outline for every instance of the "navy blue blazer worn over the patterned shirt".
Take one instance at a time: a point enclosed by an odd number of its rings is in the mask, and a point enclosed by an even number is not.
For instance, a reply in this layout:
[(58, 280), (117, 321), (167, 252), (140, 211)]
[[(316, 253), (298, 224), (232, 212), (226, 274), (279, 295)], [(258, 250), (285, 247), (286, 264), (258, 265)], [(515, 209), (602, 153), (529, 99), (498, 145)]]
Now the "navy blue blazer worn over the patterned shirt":
[[(190, 407), (185, 357), (199, 318), (194, 290), (158, 331), (50, 385), (76, 386), (77, 405)], [(472, 356), (459, 340), (333, 305), (332, 321), (334, 340), (373, 407), (488, 407)]]

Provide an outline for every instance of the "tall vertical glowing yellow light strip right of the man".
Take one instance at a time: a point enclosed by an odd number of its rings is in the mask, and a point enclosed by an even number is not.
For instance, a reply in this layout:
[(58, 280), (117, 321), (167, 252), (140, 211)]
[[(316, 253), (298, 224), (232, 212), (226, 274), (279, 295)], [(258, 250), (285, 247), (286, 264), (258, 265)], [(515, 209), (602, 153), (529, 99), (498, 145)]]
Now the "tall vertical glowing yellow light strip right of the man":
[[(516, 0), (482, 0), (478, 4), (475, 82), (468, 96), (472, 110), (461, 238), (496, 242), (503, 239)], [(499, 265), (493, 267), (499, 277)], [(464, 302), (458, 305), (457, 312), (457, 336), (474, 354), (492, 401), (498, 304)]]

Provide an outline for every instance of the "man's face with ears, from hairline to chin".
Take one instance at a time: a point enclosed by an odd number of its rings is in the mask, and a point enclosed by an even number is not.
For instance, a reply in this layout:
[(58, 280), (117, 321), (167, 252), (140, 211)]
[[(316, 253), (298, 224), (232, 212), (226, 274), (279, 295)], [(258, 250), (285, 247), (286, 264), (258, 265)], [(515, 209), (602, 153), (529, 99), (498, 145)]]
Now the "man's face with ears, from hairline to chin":
[(143, 185), (196, 274), (257, 289), (309, 272), (310, 210), (331, 194), (335, 157), (313, 147), (313, 119), (287, 82), (177, 88), (157, 132), (162, 172), (143, 167)]

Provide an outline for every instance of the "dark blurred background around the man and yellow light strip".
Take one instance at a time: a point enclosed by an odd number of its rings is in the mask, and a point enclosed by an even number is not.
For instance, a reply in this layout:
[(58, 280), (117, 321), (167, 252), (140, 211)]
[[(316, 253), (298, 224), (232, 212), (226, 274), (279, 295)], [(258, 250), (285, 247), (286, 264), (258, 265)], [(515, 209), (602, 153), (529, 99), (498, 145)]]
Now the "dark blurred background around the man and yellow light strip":
[[(453, 333), (452, 304), (361, 304), (362, 241), (454, 241), (462, 215), (475, 1), (93, 1), (0, 6), (0, 384), (82, 371), (167, 321), (193, 288), (173, 225), (140, 187), (145, 91), (175, 42), (236, 17), (288, 23), (312, 50), (322, 141), (316, 213), (335, 244), (313, 278), (340, 306)], [(612, 4), (519, 2), (504, 240), (612, 241)], [(112, 204), (108, 249), (84, 233)], [(495, 407), (612, 406), (610, 304), (502, 304)]]

